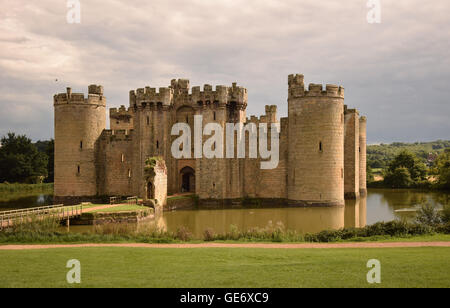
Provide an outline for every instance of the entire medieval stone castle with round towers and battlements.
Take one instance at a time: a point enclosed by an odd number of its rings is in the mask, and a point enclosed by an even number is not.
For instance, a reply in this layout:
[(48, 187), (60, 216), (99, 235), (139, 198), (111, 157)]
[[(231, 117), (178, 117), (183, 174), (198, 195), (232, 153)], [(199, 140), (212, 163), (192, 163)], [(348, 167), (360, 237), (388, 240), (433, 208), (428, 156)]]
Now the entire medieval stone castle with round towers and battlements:
[[(193, 87), (172, 80), (165, 88), (130, 91), (129, 107), (109, 111), (103, 87), (83, 94), (54, 96), (55, 198), (86, 201), (98, 196), (152, 198), (145, 161), (162, 157), (167, 193), (195, 193), (200, 202), (233, 203), (244, 198), (293, 206), (343, 205), (366, 193), (366, 118), (344, 105), (336, 85), (304, 85), (303, 75), (288, 77), (288, 117), (277, 107), (246, 117), (247, 89), (211, 85)], [(260, 168), (261, 158), (175, 159), (171, 135), (175, 123), (194, 124), (194, 115), (210, 122), (279, 123), (279, 163)], [(279, 122), (278, 122), (279, 121)], [(269, 132), (270, 134), (270, 132)], [(248, 139), (248, 138), (246, 138)], [(248, 140), (246, 140), (248, 146)]]

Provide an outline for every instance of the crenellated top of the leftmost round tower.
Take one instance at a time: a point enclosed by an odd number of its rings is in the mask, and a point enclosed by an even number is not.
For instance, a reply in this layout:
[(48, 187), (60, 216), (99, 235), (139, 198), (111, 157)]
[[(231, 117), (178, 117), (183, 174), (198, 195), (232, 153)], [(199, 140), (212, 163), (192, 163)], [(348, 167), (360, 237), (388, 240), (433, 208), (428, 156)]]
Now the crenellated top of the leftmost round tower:
[(87, 97), (83, 93), (73, 93), (72, 88), (67, 88), (66, 93), (59, 93), (53, 96), (53, 103), (54, 105), (90, 104), (106, 106), (106, 98), (103, 96), (103, 86), (90, 85)]

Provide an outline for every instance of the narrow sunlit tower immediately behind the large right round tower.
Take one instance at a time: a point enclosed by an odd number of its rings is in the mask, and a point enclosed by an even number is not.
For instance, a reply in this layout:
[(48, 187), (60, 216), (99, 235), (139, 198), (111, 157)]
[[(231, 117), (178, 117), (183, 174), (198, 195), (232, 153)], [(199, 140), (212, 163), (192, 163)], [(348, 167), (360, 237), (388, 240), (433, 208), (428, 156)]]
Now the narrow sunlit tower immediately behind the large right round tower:
[(356, 109), (344, 112), (344, 193), (345, 199), (359, 197), (359, 115)]

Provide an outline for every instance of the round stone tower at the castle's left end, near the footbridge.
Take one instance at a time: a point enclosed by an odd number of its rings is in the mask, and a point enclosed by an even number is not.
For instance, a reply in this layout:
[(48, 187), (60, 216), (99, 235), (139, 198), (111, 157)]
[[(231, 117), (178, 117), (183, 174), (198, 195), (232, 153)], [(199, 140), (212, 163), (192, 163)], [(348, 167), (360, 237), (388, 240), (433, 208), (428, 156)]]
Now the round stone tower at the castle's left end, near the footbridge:
[(97, 195), (96, 142), (106, 128), (103, 87), (54, 96), (56, 200), (66, 203)]

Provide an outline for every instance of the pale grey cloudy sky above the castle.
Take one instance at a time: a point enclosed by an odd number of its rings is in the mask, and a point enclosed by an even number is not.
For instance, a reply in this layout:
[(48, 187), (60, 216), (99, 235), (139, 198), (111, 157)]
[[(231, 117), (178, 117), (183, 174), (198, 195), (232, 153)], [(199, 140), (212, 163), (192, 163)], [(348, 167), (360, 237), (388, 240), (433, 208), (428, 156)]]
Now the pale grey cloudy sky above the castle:
[[(370, 143), (450, 139), (450, 2), (381, 0), (0, 0), (0, 135), (53, 137), (54, 93), (102, 84), (109, 107), (128, 92), (236, 81), (248, 115), (287, 114), (287, 75), (345, 87)], [(55, 80), (58, 79), (56, 82)]]

